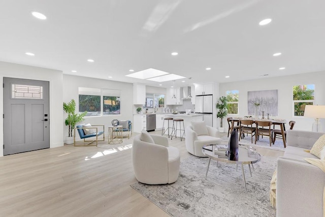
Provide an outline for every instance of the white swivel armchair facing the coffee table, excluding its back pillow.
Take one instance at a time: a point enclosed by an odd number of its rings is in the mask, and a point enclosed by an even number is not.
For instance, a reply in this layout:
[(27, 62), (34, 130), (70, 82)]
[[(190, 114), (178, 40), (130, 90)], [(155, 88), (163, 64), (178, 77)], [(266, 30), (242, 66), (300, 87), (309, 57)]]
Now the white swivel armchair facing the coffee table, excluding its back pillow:
[(218, 138), (218, 130), (216, 128), (206, 126), (208, 135), (200, 135), (193, 130), (192, 126), (185, 128), (185, 145), (186, 150), (197, 157), (206, 157), (202, 153), (202, 147), (209, 144), (220, 144), (221, 139)]

